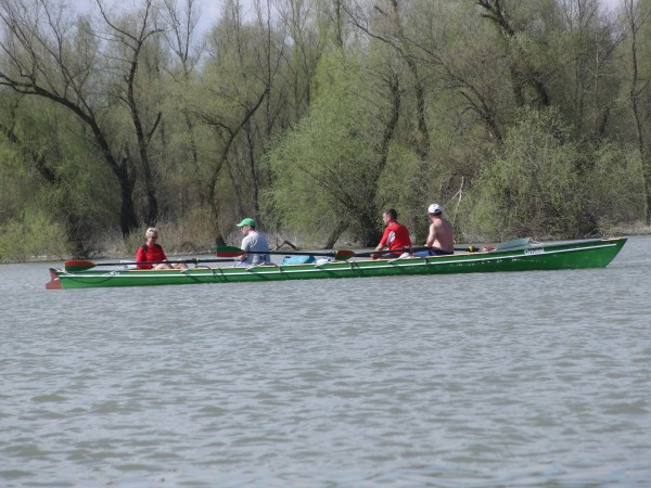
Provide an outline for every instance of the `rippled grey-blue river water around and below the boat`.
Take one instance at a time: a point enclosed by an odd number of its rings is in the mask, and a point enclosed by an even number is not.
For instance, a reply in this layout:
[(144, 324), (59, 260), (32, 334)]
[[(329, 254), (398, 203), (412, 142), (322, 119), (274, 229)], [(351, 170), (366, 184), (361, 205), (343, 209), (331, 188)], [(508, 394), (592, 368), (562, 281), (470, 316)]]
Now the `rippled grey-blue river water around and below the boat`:
[(46, 291), (2, 487), (650, 487), (651, 237), (605, 269)]

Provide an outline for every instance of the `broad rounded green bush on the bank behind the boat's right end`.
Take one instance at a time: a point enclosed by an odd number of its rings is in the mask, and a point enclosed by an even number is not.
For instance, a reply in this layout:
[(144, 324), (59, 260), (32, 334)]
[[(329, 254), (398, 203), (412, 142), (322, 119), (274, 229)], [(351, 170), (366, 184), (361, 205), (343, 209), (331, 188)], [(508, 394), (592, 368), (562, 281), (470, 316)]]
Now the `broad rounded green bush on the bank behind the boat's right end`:
[(556, 111), (525, 111), (473, 184), (464, 233), (470, 240), (501, 241), (596, 231), (585, 163)]

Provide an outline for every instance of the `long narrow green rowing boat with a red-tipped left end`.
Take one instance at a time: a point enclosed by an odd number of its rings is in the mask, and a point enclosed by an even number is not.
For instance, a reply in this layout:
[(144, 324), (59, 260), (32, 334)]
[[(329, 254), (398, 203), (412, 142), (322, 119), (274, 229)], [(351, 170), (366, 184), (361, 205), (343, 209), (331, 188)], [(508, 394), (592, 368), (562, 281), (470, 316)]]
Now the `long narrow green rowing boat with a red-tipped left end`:
[[(334, 253), (334, 260), (322, 259), (310, 264), (266, 265), (250, 268), (205, 265), (205, 262), (222, 261), (222, 259), (188, 259), (183, 262), (194, 264), (194, 267), (182, 271), (124, 269), (124, 266), (112, 270), (88, 270), (94, 266), (118, 264), (94, 265), (89, 261), (68, 261), (76, 265), (87, 264), (87, 266), (50, 268), (51, 281), (46, 284), (46, 287), (60, 290), (604, 268), (615, 258), (625, 243), (626, 237), (548, 243), (519, 239), (488, 251), (463, 252), (447, 256), (362, 259), (348, 257), (355, 253), (346, 252)], [(318, 256), (319, 253), (315, 255)], [(342, 256), (345, 259), (342, 259)]]

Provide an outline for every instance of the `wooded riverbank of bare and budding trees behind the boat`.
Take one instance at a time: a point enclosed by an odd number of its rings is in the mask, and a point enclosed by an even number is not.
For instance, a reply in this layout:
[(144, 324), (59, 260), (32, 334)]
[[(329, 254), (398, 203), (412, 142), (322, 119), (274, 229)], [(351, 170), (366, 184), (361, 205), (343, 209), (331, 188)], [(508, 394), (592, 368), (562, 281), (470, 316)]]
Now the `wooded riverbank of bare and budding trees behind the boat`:
[(76, 3), (0, 1), (0, 262), (649, 233), (651, 1)]

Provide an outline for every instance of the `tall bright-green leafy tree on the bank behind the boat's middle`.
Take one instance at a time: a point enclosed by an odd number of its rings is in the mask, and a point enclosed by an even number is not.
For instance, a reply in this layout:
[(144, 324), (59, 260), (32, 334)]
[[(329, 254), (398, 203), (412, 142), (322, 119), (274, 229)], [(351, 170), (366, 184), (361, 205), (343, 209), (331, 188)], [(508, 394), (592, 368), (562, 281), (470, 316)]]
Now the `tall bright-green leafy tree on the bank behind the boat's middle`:
[(353, 54), (323, 59), (309, 115), (268, 155), (268, 211), (315, 242), (376, 213), (379, 107), (363, 91), (363, 67)]

